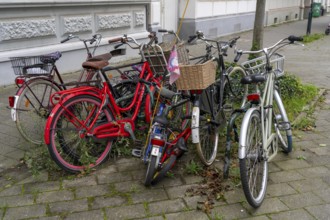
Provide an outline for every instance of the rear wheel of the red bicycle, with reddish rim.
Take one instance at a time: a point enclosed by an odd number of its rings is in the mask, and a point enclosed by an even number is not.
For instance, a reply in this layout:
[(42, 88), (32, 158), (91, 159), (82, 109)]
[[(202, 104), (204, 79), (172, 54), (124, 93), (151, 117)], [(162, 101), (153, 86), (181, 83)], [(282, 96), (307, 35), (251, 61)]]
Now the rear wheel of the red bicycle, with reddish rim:
[[(78, 95), (54, 109), (48, 150), (56, 164), (65, 171), (80, 172), (96, 167), (108, 158), (114, 139), (97, 139), (82, 135), (85, 126), (88, 127), (95, 119), (95, 113), (100, 108), (102, 106), (99, 98)], [(95, 126), (111, 121), (113, 115), (108, 107), (104, 107)]]

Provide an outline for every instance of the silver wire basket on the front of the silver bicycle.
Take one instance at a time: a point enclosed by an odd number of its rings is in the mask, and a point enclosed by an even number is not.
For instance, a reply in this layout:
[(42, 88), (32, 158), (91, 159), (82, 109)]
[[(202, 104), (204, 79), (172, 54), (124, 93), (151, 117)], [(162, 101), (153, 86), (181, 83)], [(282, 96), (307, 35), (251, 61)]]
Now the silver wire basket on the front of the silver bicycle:
[[(276, 77), (280, 77), (284, 74), (284, 59), (285, 57), (281, 54), (275, 53), (270, 58), (270, 64), (273, 67)], [(241, 63), (241, 66), (249, 74), (262, 74), (266, 72), (266, 57), (261, 56), (252, 60), (248, 60)]]

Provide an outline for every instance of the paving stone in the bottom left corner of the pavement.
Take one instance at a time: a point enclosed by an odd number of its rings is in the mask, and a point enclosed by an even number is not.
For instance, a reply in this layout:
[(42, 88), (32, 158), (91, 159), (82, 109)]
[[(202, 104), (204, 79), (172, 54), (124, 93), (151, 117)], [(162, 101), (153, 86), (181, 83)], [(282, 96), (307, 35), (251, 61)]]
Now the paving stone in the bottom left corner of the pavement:
[(45, 205), (22, 206), (22, 207), (8, 208), (6, 210), (5, 216), (3, 217), (3, 220), (42, 217), (45, 215), (46, 215)]

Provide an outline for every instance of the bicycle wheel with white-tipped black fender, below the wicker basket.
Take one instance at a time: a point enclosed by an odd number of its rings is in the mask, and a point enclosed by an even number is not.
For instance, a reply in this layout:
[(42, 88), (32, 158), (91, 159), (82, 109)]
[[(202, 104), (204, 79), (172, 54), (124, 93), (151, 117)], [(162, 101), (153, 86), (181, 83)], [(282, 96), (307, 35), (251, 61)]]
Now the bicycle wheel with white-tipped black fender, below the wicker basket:
[[(198, 139), (194, 143), (197, 154), (206, 166), (210, 166), (216, 156), (219, 143), (219, 126), (212, 123), (216, 121), (219, 124), (224, 125), (224, 115), (220, 111), (220, 103), (216, 102), (216, 92), (219, 91), (220, 85), (213, 84), (203, 91), (200, 104), (199, 114), (199, 127), (198, 127)], [(194, 115), (193, 108), (193, 114)]]

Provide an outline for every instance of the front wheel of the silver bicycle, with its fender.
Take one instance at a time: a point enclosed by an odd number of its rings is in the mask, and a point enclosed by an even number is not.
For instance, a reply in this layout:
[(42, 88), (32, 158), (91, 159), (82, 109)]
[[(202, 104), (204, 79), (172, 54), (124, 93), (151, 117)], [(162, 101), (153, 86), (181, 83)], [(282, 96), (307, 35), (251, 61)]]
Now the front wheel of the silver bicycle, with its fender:
[(290, 153), (292, 151), (291, 124), (277, 90), (274, 90), (273, 114), (274, 126), (280, 140), (280, 146), (285, 153)]

